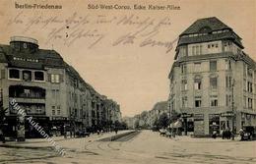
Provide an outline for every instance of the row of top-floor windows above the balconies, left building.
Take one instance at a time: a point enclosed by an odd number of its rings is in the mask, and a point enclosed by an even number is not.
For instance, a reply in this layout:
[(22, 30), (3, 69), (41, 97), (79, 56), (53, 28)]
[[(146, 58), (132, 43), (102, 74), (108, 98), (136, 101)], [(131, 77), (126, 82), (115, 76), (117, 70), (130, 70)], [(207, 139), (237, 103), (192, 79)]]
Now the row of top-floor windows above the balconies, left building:
[[(49, 74), (48, 81), (59, 83), (61, 75)], [(11, 80), (23, 80), (26, 82), (45, 82), (45, 74), (42, 71), (29, 71), (29, 70), (18, 70), (9, 69), (9, 79)]]

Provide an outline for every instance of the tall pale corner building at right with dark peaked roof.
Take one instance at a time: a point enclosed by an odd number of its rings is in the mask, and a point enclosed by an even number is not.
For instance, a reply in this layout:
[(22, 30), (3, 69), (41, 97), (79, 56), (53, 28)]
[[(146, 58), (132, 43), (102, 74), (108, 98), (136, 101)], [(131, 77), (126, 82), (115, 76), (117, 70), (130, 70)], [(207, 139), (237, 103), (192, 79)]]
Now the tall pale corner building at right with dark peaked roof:
[(169, 73), (168, 107), (195, 135), (256, 126), (256, 65), (241, 38), (217, 18), (197, 20), (179, 35)]

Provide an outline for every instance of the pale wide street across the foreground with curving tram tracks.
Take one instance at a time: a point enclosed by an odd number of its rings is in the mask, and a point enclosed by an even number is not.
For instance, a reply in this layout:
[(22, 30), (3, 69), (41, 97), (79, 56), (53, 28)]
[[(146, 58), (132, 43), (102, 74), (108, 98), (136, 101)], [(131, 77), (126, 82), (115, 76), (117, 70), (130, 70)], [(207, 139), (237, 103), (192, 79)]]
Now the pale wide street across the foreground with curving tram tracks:
[[(104, 135), (110, 136), (108, 135)], [(160, 137), (143, 131), (132, 138), (96, 141), (96, 136), (57, 141), (67, 153), (57, 156), (45, 142), (29, 143), (33, 148), (0, 147), (0, 163), (232, 163), (256, 162), (256, 141), (222, 138)], [(27, 144), (27, 143), (26, 143)], [(41, 148), (38, 146), (41, 144)], [(36, 145), (36, 148), (35, 148)]]

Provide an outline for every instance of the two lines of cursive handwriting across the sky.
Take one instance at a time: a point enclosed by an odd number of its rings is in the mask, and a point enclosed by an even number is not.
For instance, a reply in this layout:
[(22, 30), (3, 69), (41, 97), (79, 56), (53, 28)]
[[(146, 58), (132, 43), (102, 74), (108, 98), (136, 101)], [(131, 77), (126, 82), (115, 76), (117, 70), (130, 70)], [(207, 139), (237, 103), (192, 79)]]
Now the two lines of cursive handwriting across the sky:
[[(27, 18), (27, 19), (25, 19)], [(101, 42), (110, 42), (110, 46), (137, 45), (138, 47), (162, 47), (168, 53), (173, 49), (174, 39), (163, 40), (163, 29), (172, 25), (170, 18), (151, 18), (136, 15), (106, 16), (79, 15), (74, 12), (63, 16), (29, 16), (20, 12), (9, 20), (7, 26), (19, 26), (24, 33), (34, 29), (46, 31), (45, 44), (53, 41), (72, 46), (83, 39), (88, 48), (94, 48)]]

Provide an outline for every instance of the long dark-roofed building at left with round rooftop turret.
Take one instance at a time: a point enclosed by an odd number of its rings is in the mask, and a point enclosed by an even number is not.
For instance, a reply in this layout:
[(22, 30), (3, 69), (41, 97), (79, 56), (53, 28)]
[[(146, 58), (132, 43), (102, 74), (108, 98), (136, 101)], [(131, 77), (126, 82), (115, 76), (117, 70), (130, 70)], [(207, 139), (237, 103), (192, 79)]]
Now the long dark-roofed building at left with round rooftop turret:
[[(120, 115), (112, 101), (112, 113), (106, 112), (110, 110), (104, 105), (106, 96), (97, 93), (56, 51), (39, 49), (35, 39), (15, 36), (10, 45), (0, 44), (0, 70), (1, 101), (9, 108), (9, 136), (17, 133), (17, 110), (9, 104), (13, 98), (46, 132), (52, 127), (63, 132), (64, 126), (96, 131), (107, 117)], [(26, 123), (26, 135), (39, 134)]]

